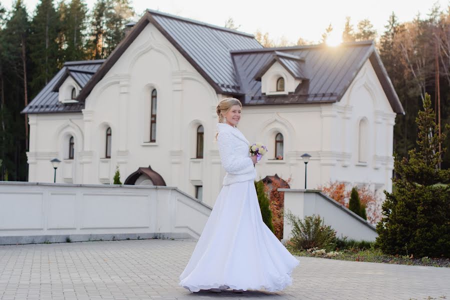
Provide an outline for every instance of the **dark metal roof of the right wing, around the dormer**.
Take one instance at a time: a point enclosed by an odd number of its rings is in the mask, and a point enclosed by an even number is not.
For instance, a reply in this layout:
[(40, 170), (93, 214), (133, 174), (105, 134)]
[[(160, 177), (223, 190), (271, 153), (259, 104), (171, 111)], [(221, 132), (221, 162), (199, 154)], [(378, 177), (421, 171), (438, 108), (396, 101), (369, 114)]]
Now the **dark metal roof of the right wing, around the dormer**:
[[(300, 83), (294, 93), (261, 94), (258, 75), (264, 67), (273, 63), (274, 51), (295, 55), (304, 60), (303, 69), (307, 70), (305, 77), (308, 80)], [(343, 43), (337, 47), (318, 44), (233, 50), (231, 55), (240, 78), (239, 84), (244, 91), (243, 105), (339, 101), (365, 61), (369, 59), (393, 111), (404, 114), (400, 100), (371, 40)], [(282, 56), (278, 54), (277, 57), (280, 59)]]

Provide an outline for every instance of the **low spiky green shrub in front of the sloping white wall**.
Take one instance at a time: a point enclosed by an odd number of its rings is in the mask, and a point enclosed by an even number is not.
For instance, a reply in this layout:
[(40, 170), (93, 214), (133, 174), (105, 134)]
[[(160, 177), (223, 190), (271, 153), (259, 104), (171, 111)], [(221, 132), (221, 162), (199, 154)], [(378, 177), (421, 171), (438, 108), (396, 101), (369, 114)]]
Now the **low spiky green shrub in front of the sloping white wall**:
[(320, 215), (308, 215), (300, 219), (290, 210), (284, 212), (287, 222), (292, 226), (289, 244), (295, 250), (317, 247), (331, 251), (336, 248), (336, 231), (324, 225)]

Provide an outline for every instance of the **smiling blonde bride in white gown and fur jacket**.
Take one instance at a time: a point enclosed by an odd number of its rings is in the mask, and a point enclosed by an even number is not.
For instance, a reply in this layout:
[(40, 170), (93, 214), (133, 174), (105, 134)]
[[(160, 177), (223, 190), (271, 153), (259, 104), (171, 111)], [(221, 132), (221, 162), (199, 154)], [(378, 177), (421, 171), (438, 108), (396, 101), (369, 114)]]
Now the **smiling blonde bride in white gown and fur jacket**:
[(212, 207), (179, 285), (192, 292), (281, 290), (292, 284), (292, 269), (299, 261), (262, 221), (254, 178), (256, 155), (236, 128), (242, 104), (224, 98), (216, 108), (216, 134), (220, 162), (226, 171), (223, 186)]

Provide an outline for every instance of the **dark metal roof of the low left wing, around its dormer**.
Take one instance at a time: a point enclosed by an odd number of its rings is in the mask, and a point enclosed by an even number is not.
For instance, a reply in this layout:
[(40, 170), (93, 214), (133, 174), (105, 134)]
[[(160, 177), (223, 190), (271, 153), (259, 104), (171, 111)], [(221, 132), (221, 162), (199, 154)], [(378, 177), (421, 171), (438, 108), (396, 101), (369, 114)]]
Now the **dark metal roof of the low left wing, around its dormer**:
[(57, 89), (54, 87), (71, 75), (78, 85), (83, 88), (88, 78), (92, 76), (98, 67), (103, 63), (103, 59), (98, 60), (82, 60), (67, 61), (59, 72), (39, 91), (39, 93), (23, 108), (20, 113), (37, 113), (37, 112), (75, 112), (84, 108), (83, 102), (78, 103), (60, 103), (58, 101)]

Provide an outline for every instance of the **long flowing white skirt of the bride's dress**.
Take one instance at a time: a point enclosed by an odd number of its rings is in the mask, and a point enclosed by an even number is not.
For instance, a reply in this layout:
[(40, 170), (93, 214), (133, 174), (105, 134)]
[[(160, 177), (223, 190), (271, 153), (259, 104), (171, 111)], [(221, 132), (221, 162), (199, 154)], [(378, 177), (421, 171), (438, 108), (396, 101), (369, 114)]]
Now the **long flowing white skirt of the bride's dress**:
[(223, 185), (179, 285), (267, 291), (292, 284), (296, 259), (262, 221), (253, 179)]

